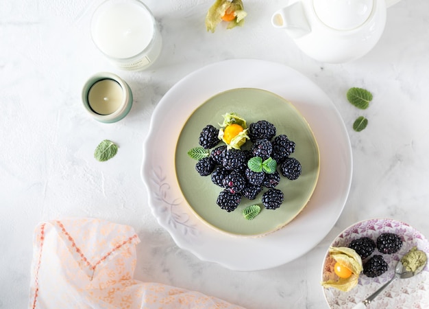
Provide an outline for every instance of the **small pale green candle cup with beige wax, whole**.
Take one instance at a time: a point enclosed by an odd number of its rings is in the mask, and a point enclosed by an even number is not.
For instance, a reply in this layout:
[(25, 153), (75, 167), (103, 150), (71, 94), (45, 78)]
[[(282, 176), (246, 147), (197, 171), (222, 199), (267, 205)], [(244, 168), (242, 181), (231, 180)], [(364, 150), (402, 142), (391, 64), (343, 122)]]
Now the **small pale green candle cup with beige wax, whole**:
[(132, 92), (119, 76), (102, 72), (91, 76), (84, 84), (82, 102), (86, 111), (99, 122), (118, 122), (130, 112)]

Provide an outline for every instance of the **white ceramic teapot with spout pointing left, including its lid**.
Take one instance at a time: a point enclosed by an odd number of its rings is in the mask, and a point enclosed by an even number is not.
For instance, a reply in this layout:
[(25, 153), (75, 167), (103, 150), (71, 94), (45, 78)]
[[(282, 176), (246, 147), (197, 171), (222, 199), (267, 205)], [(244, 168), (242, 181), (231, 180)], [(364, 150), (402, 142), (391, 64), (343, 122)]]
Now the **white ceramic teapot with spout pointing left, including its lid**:
[(271, 18), (302, 52), (321, 62), (341, 63), (367, 54), (378, 42), (386, 9), (400, 0), (290, 0)]

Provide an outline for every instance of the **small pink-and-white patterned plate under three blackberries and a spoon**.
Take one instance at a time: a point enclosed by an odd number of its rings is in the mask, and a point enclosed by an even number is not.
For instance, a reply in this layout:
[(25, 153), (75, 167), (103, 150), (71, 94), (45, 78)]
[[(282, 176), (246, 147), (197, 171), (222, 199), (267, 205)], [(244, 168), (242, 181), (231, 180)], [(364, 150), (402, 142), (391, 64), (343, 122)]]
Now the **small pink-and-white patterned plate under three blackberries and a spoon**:
[[(397, 261), (411, 248), (417, 246), (419, 250), (426, 252), (426, 254), (429, 253), (429, 242), (419, 231), (404, 222), (392, 219), (371, 219), (358, 222), (340, 233), (332, 242), (331, 246), (347, 247), (352, 240), (361, 237), (369, 237), (376, 241), (381, 233), (396, 233), (403, 241), (402, 248), (397, 253), (391, 255), (382, 254), (378, 252), (377, 249), (373, 252), (372, 255), (380, 254), (383, 256), (384, 260), (389, 265), (388, 271), (376, 278), (369, 278), (361, 273), (358, 285), (349, 292), (342, 292), (335, 288), (323, 288), (323, 293), (330, 308), (353, 308), (356, 304), (360, 303), (360, 301), (366, 299), (393, 277)], [(367, 259), (363, 260), (363, 262), (365, 263)], [(334, 260), (330, 258), (328, 253), (326, 253), (326, 258), (323, 261), (321, 276), (323, 281), (336, 277), (334, 273)], [(393, 282), (391, 286), (371, 302), (368, 308), (429, 308), (428, 265), (415, 277), (400, 279)]]

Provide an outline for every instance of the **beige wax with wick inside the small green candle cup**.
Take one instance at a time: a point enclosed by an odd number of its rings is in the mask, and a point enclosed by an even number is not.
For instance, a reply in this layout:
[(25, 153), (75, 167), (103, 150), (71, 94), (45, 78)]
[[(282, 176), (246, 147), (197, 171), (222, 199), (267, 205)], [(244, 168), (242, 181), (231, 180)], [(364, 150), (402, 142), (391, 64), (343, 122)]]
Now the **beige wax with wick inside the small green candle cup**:
[(121, 85), (110, 79), (100, 80), (88, 91), (88, 104), (99, 115), (110, 115), (117, 111), (123, 102)]

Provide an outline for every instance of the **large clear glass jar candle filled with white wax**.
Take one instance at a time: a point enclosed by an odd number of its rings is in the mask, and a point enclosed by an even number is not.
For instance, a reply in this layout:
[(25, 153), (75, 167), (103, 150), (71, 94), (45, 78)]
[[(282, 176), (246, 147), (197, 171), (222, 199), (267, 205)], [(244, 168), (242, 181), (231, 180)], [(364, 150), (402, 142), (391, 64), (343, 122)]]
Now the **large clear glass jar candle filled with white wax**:
[(120, 69), (146, 69), (161, 52), (162, 38), (154, 15), (138, 0), (101, 3), (91, 19), (91, 37)]

